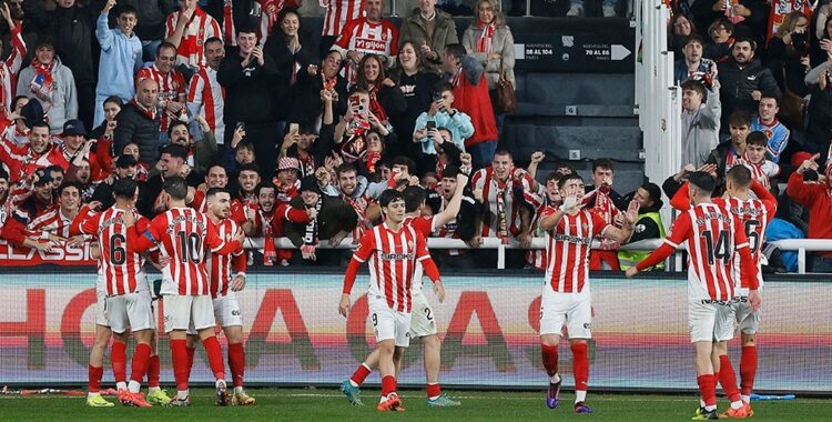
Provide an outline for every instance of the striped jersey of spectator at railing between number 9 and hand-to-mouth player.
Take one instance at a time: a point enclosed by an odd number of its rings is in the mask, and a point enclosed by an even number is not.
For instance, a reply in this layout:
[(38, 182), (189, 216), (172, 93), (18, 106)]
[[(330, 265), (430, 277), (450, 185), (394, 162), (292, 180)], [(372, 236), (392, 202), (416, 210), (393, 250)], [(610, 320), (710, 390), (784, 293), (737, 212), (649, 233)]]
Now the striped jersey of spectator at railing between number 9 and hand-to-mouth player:
[(471, 177), (470, 185), (473, 191), (483, 191), (483, 201), (488, 204), (489, 215), (483, 219), (484, 238), (498, 237), (498, 201), (497, 195), (503, 195), (504, 210), (506, 213), (506, 223), (509, 235), (516, 237), (520, 233), (520, 200), (515, 198), (516, 192), (522, 192), (522, 200), (534, 208), (541, 205), (541, 198), (531, 190), (531, 175), (524, 170), (515, 169), (514, 175), (506, 180), (503, 185), (494, 178), (494, 171), (490, 167), (481, 169)]

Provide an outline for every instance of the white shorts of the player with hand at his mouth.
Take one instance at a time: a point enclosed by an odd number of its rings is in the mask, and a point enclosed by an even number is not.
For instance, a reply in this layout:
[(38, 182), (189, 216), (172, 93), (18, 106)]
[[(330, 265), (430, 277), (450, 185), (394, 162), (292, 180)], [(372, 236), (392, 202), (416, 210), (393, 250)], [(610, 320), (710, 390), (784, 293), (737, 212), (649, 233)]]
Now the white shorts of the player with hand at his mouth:
[(560, 293), (547, 283), (540, 301), (540, 335), (561, 335), (561, 329), (566, 324), (569, 339), (591, 339), (591, 302), (592, 294), (588, 291)]

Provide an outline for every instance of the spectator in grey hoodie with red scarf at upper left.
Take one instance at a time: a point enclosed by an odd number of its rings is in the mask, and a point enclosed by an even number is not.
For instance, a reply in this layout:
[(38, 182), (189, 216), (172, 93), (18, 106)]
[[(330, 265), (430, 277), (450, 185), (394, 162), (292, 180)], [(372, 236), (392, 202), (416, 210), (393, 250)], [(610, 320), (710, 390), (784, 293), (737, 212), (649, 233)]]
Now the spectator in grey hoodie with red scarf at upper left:
[(63, 66), (55, 56), (54, 43), (47, 38), (38, 41), (34, 58), (18, 77), (18, 94), (38, 100), (43, 110), (49, 111), (49, 128), (52, 133), (59, 133), (67, 120), (78, 119), (80, 101), (94, 100), (79, 98), (72, 76), (70, 68)]

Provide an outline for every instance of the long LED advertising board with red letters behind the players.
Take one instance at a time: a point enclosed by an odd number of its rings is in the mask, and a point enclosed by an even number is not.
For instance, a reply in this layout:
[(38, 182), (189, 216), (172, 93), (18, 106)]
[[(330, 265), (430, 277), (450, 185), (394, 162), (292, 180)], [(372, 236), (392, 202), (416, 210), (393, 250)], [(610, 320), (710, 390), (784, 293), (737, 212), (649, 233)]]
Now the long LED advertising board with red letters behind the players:
[[(156, 278), (151, 275), (151, 279)], [(438, 303), (426, 281), (433, 318), (443, 339), (442, 381), (481, 389), (539, 389), (546, 384), (538, 344), (542, 275), (507, 271), (444, 277)], [(68, 269), (0, 274), (0, 382), (83, 384), (92, 343), (94, 273)], [(333, 385), (374, 348), (361, 275), (347, 319), (337, 312), (343, 273), (253, 271), (239, 294), (246, 332), (246, 382)], [(595, 340), (590, 389), (691, 390), (696, 388), (688, 336), (686, 281), (666, 273), (645, 279), (593, 275)], [(757, 386), (772, 392), (831, 393), (830, 284), (811, 277), (767, 279), (758, 335)], [(156, 311), (161, 315), (161, 305)], [(161, 319), (160, 319), (161, 326)], [(224, 342), (224, 340), (222, 340)], [(572, 382), (570, 353), (561, 344), (561, 373)], [(739, 361), (738, 340), (730, 343)], [(169, 343), (160, 340), (163, 383), (172, 381)], [(400, 383), (424, 384), (422, 349), (413, 341)], [(108, 363), (109, 365), (109, 363)], [(192, 379), (210, 382), (200, 355)], [(112, 381), (105, 371), (105, 383)], [(369, 383), (377, 383), (372, 375)]]

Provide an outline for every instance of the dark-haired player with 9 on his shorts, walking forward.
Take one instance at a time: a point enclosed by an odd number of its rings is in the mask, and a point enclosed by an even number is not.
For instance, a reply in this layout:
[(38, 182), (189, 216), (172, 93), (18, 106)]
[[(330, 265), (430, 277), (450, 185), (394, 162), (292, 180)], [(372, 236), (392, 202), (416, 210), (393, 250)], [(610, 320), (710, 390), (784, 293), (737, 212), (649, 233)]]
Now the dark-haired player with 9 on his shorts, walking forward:
[(445, 299), (445, 289), (439, 280), (439, 269), (427, 252), (425, 238), (413, 227), (404, 224), (405, 199), (402, 192), (388, 189), (378, 198), (378, 203), (386, 221), (362, 235), (344, 275), (344, 294), (338, 311), (344, 316), (349, 312), (349, 292), (358, 268), (372, 258), (367, 299), (382, 372), (382, 399), (376, 409), (400, 412), (404, 408), (396, 393), (396, 373), (410, 343), (412, 288), (419, 281), (415, 279), (417, 264), (422, 263), (425, 274), (434, 282), (434, 293), (439, 301)]

